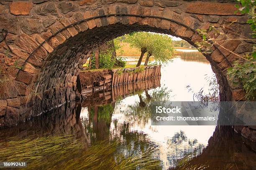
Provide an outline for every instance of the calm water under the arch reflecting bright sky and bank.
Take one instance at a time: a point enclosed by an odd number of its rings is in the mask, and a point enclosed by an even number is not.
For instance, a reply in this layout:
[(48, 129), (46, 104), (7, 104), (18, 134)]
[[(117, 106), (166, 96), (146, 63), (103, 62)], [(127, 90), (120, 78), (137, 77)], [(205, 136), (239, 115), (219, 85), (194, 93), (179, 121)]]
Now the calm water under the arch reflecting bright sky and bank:
[(28, 169), (255, 169), (256, 145), (228, 126), (151, 126), (151, 102), (193, 101), (187, 85), (207, 92), (207, 76), (207, 60), (176, 57), (161, 80), (115, 87), (1, 130), (0, 161), (26, 160)]

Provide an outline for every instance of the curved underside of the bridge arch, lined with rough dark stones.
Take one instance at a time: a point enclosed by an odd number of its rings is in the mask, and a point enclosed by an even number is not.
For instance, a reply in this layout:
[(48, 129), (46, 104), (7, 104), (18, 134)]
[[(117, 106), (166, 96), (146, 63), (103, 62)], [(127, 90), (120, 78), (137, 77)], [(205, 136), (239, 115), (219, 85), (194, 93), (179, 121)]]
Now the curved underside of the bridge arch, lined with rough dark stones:
[[(34, 85), (35, 93), (39, 93), (41, 98), (36, 95), (32, 96), (34, 98), (31, 99), (31, 101), (33, 101), (31, 106), (35, 106), (35, 108), (39, 109), (39, 112), (41, 112), (42, 110), (47, 110), (50, 105), (54, 107), (66, 101), (74, 100), (76, 76), (79, 74), (82, 65), (86, 62), (87, 54), (92, 52), (95, 47), (109, 40), (113, 40), (115, 37), (135, 31), (158, 32), (181, 37), (171, 30), (151, 27), (149, 25), (124, 25), (121, 23), (80, 32), (76, 36), (70, 37), (69, 40), (61, 44), (46, 58), (44, 67)], [(181, 38), (195, 46), (188, 38)], [(210, 56), (205, 55), (205, 57), (212, 65), (213, 71), (217, 74), (221, 87), (225, 89), (225, 92), (222, 90), (221, 100), (231, 100), (230, 90), (227, 86), (228, 82), (223, 78), (224, 75), (221, 70), (218, 70), (217, 63), (213, 61)], [(66, 86), (62, 87), (62, 85)], [(58, 100), (57, 93), (61, 97), (60, 100)], [(65, 96), (62, 94), (65, 94)], [(36, 112), (34, 111), (34, 113)]]

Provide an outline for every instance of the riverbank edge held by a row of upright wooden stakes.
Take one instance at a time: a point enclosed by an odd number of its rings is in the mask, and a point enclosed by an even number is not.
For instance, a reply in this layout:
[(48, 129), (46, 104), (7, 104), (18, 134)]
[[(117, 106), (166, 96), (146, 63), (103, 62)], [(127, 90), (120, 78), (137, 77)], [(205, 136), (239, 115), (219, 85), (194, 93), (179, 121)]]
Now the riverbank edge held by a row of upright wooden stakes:
[(77, 88), (82, 96), (86, 98), (95, 92), (111, 90), (113, 86), (125, 85), (133, 82), (154, 79), (161, 76), (161, 65), (145, 67), (87, 70), (80, 72), (77, 77)]

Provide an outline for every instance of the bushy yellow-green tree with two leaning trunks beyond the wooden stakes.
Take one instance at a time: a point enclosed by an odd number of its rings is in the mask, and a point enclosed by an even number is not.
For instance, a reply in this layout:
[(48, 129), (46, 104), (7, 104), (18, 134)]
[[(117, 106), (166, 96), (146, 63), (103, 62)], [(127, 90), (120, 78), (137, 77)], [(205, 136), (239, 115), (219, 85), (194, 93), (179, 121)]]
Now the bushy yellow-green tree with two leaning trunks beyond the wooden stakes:
[(167, 62), (173, 54), (172, 39), (167, 35), (151, 32), (134, 32), (125, 36), (125, 42), (130, 43), (131, 47), (141, 50), (141, 56), (136, 67), (141, 65), (144, 54), (147, 52), (145, 66), (148, 65), (149, 57), (159, 62)]

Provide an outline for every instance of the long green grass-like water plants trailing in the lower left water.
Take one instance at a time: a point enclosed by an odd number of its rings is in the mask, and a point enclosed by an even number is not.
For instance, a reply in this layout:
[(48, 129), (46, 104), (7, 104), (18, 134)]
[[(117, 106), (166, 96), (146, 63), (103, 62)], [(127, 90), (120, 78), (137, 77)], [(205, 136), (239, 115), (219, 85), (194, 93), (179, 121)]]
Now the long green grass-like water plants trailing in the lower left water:
[[(26, 169), (133, 170), (160, 169), (152, 150), (124, 158), (118, 142), (102, 141), (91, 147), (74, 135), (0, 139), (0, 161), (26, 161)], [(115, 160), (119, 158), (117, 163)]]

